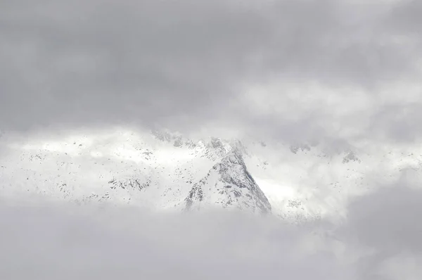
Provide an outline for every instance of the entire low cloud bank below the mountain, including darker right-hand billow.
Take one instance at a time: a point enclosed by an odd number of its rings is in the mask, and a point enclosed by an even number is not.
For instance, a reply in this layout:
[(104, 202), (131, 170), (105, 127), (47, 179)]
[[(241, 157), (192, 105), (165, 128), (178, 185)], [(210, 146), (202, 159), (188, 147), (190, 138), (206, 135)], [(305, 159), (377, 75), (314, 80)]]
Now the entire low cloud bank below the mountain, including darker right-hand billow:
[[(418, 279), (421, 191), (357, 198), (342, 225), (43, 201), (0, 208), (4, 279)], [(25, 205), (25, 206), (23, 206)]]

